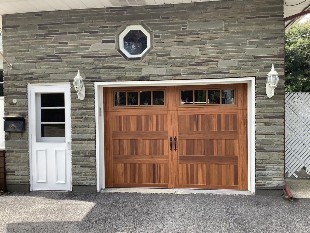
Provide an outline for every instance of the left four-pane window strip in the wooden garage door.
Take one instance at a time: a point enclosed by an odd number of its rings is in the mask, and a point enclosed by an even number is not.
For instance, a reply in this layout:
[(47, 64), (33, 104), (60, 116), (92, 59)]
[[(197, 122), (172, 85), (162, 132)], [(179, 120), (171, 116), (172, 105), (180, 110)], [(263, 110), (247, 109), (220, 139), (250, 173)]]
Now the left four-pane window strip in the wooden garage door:
[(164, 90), (115, 91), (114, 107), (165, 106)]

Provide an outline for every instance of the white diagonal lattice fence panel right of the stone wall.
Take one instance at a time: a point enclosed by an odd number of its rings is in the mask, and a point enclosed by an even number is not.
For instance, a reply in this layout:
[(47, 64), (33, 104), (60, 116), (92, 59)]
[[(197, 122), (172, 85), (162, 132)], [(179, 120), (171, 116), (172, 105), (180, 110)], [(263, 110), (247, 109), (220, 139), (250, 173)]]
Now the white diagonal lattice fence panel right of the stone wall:
[(285, 126), (287, 176), (310, 175), (310, 92), (285, 94)]

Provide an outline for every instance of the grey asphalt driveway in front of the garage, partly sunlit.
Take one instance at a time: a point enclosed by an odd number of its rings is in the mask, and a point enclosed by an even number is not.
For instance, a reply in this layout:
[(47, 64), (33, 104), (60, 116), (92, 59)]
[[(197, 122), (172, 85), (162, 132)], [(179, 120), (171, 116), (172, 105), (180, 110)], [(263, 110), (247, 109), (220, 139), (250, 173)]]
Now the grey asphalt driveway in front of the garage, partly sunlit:
[(0, 232), (308, 232), (310, 199), (32, 192), (0, 196)]

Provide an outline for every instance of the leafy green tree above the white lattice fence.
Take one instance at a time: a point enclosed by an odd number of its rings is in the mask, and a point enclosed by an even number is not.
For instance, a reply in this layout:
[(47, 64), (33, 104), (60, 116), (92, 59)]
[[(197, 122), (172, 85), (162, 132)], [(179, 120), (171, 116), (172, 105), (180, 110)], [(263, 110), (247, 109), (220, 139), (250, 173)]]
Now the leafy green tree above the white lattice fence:
[[(310, 21), (285, 33), (285, 40), (310, 33)], [(310, 36), (285, 43), (286, 92), (310, 91)]]

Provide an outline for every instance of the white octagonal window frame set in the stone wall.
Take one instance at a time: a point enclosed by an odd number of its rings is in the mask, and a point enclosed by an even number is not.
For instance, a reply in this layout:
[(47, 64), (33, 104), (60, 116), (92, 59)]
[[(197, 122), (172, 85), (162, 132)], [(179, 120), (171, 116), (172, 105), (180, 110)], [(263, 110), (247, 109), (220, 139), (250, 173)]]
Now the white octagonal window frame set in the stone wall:
[[(135, 54), (132, 55), (127, 52), (127, 50), (124, 48), (124, 37), (127, 35), (128, 32), (133, 31), (133, 30), (140, 30), (146, 35), (147, 37), (147, 43), (148, 46), (144, 49), (144, 51), (141, 54)], [(119, 49), (127, 56), (127, 57), (142, 57), (146, 51), (151, 47), (151, 34), (144, 29), (143, 26), (141, 25), (130, 25), (125, 28), (125, 30), (119, 35)]]

